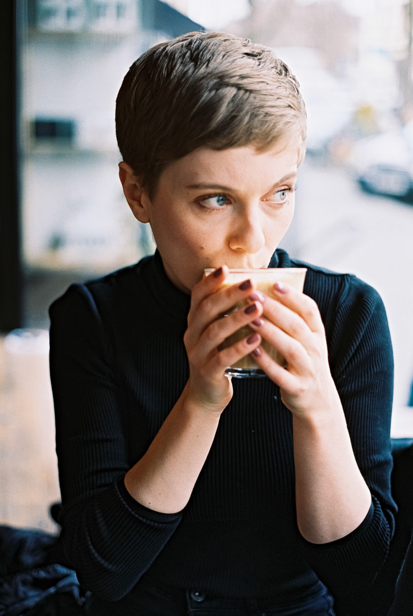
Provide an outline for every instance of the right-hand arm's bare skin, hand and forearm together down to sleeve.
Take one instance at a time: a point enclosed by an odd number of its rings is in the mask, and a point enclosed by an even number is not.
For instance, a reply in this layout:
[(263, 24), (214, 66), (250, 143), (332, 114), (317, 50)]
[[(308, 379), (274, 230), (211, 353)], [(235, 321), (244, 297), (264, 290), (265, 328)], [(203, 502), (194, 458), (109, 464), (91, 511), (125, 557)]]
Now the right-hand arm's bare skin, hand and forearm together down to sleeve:
[(287, 365), (279, 366), (262, 346), (253, 356), (280, 386), (282, 402), (293, 415), (298, 529), (311, 543), (328, 543), (361, 524), (370, 490), (354, 458), (317, 304), (287, 285), (274, 285), (273, 294), (262, 298), (260, 325), (250, 326), (284, 355)]

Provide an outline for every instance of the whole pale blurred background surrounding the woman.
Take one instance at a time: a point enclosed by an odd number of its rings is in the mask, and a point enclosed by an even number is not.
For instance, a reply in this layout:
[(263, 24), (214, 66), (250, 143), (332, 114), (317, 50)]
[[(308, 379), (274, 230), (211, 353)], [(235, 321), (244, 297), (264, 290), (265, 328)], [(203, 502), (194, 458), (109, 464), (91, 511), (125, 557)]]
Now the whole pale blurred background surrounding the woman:
[(47, 310), (70, 283), (152, 253), (118, 180), (115, 99), (145, 49), (189, 31), (267, 44), (298, 77), (308, 155), (282, 247), (382, 294), (393, 435), (413, 436), (413, 0), (14, 0), (0, 30), (0, 465), (21, 479), (0, 479), (0, 522), (49, 528), (25, 488), (59, 498)]

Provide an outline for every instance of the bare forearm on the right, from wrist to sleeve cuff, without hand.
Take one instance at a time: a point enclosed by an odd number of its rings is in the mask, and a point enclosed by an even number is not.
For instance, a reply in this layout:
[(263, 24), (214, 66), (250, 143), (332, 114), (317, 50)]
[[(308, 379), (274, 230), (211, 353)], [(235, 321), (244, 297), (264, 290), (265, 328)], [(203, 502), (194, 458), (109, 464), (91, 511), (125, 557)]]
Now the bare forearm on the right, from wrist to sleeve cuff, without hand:
[(354, 458), (341, 408), (293, 418), (296, 516), (303, 537), (327, 543), (364, 520), (370, 490)]

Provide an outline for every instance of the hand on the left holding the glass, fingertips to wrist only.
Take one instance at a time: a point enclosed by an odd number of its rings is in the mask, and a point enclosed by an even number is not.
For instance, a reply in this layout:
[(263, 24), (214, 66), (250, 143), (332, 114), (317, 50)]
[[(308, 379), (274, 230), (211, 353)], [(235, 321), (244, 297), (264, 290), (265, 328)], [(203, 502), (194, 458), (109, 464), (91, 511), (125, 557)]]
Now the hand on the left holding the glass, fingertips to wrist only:
[[(253, 283), (245, 280), (240, 285), (222, 287), (227, 274), (228, 268), (223, 265), (204, 275), (194, 286), (184, 334), (190, 370), (186, 393), (194, 402), (215, 413), (221, 413), (232, 398), (232, 383), (225, 375), (226, 368), (261, 342), (260, 334), (251, 331), (231, 347), (218, 349), (228, 336), (260, 318), (263, 312)], [(247, 300), (247, 306), (231, 312), (242, 300)]]

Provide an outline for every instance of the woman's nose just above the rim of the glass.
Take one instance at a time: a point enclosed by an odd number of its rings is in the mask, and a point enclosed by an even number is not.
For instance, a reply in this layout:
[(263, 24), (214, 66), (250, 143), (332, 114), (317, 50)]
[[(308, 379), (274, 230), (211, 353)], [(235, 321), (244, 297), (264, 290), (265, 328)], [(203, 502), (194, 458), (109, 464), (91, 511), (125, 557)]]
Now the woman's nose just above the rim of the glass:
[(235, 251), (256, 254), (265, 245), (260, 208), (251, 206), (237, 213), (229, 237), (229, 247)]

